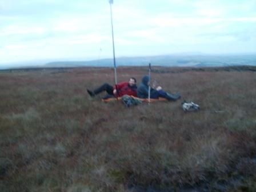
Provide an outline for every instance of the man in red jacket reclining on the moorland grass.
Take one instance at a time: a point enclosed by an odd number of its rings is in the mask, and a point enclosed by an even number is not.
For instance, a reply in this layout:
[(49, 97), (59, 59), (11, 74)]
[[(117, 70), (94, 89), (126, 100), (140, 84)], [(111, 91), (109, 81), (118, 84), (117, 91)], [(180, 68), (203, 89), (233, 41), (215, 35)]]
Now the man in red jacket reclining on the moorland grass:
[(136, 79), (131, 77), (129, 82), (118, 83), (116, 86), (111, 86), (108, 83), (104, 83), (102, 86), (98, 87), (94, 91), (87, 89), (87, 93), (94, 97), (95, 95), (102, 93), (103, 91), (107, 92), (107, 95), (103, 97), (103, 99), (111, 98), (111, 97), (122, 97), (123, 95), (133, 95), (137, 97), (137, 86)]

